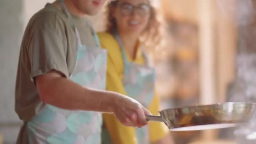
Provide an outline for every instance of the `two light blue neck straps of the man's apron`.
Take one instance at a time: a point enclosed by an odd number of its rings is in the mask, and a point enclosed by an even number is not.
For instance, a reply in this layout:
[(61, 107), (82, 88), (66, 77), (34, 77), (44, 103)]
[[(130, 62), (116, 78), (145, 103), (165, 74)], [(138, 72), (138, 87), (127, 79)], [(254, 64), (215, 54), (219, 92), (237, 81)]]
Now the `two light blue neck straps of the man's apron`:
[[(64, 13), (67, 15), (68, 19), (71, 21), (71, 25), (72, 25), (72, 28), (75, 31), (75, 35), (77, 37), (78, 44), (81, 44), (81, 39), (80, 39), (79, 32), (78, 32), (77, 28), (75, 27), (74, 20), (73, 20), (71, 14), (69, 13), (69, 11), (67, 9), (67, 6), (65, 5), (64, 0), (59, 0), (59, 4), (61, 5), (62, 11), (64, 11)], [(88, 19), (85, 19), (85, 20), (88, 23), (88, 25), (89, 25), (89, 27), (92, 31), (93, 39), (94, 39), (96, 45), (98, 47), (100, 47), (99, 37), (97, 36), (95, 30), (93, 29), (93, 27), (92, 27), (91, 23), (88, 21)]]

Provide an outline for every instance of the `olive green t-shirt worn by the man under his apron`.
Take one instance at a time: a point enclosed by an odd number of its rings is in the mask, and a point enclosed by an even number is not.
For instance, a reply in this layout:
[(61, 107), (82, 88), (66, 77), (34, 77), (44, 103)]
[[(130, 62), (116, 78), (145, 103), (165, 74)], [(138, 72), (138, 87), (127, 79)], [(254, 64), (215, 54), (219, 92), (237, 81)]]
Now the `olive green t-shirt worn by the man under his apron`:
[[(72, 16), (83, 45), (96, 47), (85, 18)], [(16, 77), (15, 110), (23, 121), (37, 114), (42, 103), (33, 78), (55, 69), (69, 77), (75, 67), (77, 38), (67, 15), (46, 4), (30, 19), (21, 43)]]

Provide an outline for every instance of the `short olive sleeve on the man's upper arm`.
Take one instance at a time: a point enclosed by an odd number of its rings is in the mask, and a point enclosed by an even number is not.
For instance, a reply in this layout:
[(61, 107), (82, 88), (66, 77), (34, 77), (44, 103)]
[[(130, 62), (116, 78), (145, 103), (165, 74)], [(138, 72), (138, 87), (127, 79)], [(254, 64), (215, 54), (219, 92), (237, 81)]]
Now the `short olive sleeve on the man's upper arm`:
[(63, 42), (54, 28), (39, 27), (35, 30), (29, 45), (32, 80), (53, 69), (68, 77), (67, 48)]

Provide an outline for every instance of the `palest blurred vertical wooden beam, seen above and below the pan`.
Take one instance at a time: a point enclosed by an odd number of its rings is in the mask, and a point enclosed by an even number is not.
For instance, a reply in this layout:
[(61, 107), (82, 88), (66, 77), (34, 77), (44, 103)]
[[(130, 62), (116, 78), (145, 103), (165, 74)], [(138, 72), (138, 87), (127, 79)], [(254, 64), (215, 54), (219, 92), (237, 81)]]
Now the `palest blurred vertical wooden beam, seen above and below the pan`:
[[(199, 67), (200, 67), (200, 104), (216, 102), (216, 67), (214, 40), (215, 0), (198, 0), (199, 22)], [(206, 130), (202, 139), (216, 139), (216, 131)]]

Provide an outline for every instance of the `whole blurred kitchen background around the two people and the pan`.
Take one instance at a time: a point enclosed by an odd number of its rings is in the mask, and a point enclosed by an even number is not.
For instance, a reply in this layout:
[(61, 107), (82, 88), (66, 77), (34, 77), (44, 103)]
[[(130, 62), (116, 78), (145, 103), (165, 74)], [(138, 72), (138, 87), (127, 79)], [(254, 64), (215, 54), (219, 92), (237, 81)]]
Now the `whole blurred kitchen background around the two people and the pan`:
[[(153, 0), (163, 47), (157, 68), (161, 109), (223, 101), (256, 102), (256, 0)], [(14, 144), (19, 48), (30, 17), (53, 0), (0, 0), (0, 144)], [(90, 17), (98, 31), (102, 12)], [(256, 116), (240, 128), (170, 132), (176, 144), (256, 144)]]

